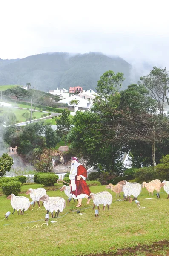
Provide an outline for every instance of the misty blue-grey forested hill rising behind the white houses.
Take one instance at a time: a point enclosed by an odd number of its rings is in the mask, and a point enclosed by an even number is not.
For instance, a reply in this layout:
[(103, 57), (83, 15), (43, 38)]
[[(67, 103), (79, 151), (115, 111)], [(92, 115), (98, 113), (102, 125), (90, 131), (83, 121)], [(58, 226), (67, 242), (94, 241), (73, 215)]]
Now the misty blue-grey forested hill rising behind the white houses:
[(43, 91), (78, 85), (84, 90), (95, 90), (100, 76), (113, 70), (124, 73), (126, 80), (122, 89), (125, 89), (136, 82), (130, 79), (131, 69), (132, 66), (122, 58), (102, 53), (44, 53), (17, 60), (0, 59), (0, 85), (26, 85), (29, 82), (32, 88)]

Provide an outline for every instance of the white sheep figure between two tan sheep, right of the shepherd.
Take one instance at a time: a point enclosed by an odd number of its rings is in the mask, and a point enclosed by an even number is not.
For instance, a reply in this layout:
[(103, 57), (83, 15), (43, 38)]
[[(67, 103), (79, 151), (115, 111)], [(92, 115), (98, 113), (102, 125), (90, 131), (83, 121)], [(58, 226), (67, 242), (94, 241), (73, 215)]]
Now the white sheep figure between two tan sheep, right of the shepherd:
[(131, 195), (134, 196), (133, 201), (137, 199), (141, 192), (141, 185), (137, 182), (127, 182), (126, 180), (120, 181), (118, 184), (123, 185), (123, 192), (125, 198), (129, 196), (129, 202), (132, 202)]

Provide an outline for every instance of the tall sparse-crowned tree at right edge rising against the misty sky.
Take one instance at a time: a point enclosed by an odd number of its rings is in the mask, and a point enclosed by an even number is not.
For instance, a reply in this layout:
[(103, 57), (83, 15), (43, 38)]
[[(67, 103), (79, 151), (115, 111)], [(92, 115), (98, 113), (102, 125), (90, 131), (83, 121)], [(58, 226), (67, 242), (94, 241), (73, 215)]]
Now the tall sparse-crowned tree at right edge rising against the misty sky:
[(149, 75), (140, 77), (140, 80), (157, 102), (158, 109), (163, 115), (164, 104), (167, 102), (169, 105), (169, 72), (166, 68), (153, 67)]

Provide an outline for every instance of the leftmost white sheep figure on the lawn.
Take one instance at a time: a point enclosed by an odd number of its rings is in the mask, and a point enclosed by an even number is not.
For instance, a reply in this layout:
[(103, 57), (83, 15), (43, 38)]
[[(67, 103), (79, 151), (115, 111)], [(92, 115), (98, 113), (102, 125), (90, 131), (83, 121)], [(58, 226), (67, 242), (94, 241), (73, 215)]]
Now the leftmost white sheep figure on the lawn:
[(17, 210), (17, 213), (19, 214), (20, 209), (20, 214), (23, 215), (24, 211), (27, 211), (30, 206), (29, 199), (25, 196), (15, 196), (14, 194), (11, 194), (7, 199), (11, 200), (11, 206), (14, 209), (12, 214), (14, 214), (15, 210)]

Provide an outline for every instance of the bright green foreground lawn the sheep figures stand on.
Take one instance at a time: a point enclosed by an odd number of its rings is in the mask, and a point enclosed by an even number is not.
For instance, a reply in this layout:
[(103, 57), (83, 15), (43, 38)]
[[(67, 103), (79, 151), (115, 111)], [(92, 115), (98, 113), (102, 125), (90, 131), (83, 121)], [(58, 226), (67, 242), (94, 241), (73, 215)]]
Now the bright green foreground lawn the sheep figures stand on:
[[(24, 185), (20, 195), (29, 198), (25, 192), (30, 187), (37, 188), (42, 185)], [(57, 185), (58, 186), (58, 185)], [(57, 187), (56, 187), (57, 188)], [(90, 187), (91, 192), (97, 193), (107, 190), (105, 186)], [(113, 201), (108, 211), (102, 211), (100, 207), (99, 217), (95, 217), (92, 210), (92, 201), (86, 204), (86, 199), (82, 201), (82, 208), (76, 208), (76, 203), (70, 202), (69, 207), (59, 214), (59, 218), (54, 219), (56, 223), (43, 225), (46, 210), (37, 210), (37, 205), (32, 211), (28, 210), (24, 215), (9, 215), (8, 220), (0, 221), (0, 255), (3, 256), (80, 256), (99, 253), (108, 255), (137, 255), (152, 256), (166, 255), (168, 246), (159, 251), (153, 249), (150, 252), (147, 245), (153, 242), (169, 240), (169, 201), (166, 199), (166, 192), (163, 188), (160, 198), (156, 195), (149, 196), (146, 189), (142, 190), (138, 200), (145, 209), (138, 209), (135, 202), (130, 204), (127, 201), (116, 201), (115, 193)], [(48, 191), (49, 196), (61, 196), (67, 200), (64, 192)], [(121, 193), (123, 198), (123, 193)], [(145, 198), (153, 198), (145, 200)], [(117, 198), (118, 199), (118, 198)], [(44, 207), (41, 207), (44, 209)], [(97, 209), (97, 208), (96, 208)], [(77, 214), (80, 210), (82, 215)], [(4, 218), (7, 211), (13, 212), (10, 201), (5, 196), (0, 197), (0, 219)], [(168, 244), (168, 242), (167, 242)], [(144, 250), (136, 251), (133, 254), (129, 249), (120, 254), (123, 248), (142, 245)], [(103, 254), (102, 254), (103, 255)], [(105, 255), (105, 254), (104, 254)]]

